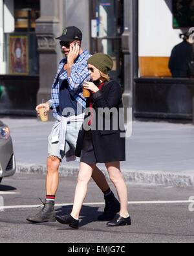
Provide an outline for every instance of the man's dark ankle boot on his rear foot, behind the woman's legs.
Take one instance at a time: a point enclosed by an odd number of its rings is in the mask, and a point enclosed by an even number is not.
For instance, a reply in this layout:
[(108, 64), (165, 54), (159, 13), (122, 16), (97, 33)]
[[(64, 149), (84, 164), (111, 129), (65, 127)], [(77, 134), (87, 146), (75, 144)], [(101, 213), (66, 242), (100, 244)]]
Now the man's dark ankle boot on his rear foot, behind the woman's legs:
[(113, 192), (109, 196), (105, 196), (105, 209), (102, 215), (98, 216), (98, 220), (113, 220), (114, 216), (120, 211), (120, 202), (116, 199)]

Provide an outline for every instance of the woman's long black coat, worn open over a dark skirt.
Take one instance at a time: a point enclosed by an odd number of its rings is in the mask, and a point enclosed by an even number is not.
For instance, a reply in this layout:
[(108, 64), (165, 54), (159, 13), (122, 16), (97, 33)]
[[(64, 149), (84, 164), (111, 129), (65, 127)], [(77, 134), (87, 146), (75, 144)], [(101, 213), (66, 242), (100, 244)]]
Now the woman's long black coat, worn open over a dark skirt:
[[(96, 124), (94, 124), (95, 130), (92, 129), (92, 142), (97, 162), (110, 163), (113, 161), (125, 161), (124, 109), (120, 85), (115, 81), (105, 83), (100, 91), (92, 95), (92, 98), (94, 100), (93, 108), (96, 111)], [(89, 100), (87, 101), (87, 107), (88, 106)], [(115, 108), (115, 110), (120, 110), (121, 115), (118, 115), (115, 112), (113, 112), (111, 115), (104, 115), (98, 112), (99, 108), (103, 110), (105, 108), (109, 108), (109, 110)], [(105, 123), (106, 119), (111, 121), (109, 130), (105, 129), (105, 125), (103, 125), (102, 129), (98, 130), (99, 117), (102, 118), (103, 124)], [(87, 118), (88, 115), (85, 115), (85, 121), (87, 121)], [(118, 128), (116, 129), (113, 126), (115, 121), (118, 124)], [(121, 134), (122, 137), (120, 136)], [(82, 127), (76, 146), (76, 156), (78, 157), (81, 156), (84, 136), (85, 130), (83, 130)]]

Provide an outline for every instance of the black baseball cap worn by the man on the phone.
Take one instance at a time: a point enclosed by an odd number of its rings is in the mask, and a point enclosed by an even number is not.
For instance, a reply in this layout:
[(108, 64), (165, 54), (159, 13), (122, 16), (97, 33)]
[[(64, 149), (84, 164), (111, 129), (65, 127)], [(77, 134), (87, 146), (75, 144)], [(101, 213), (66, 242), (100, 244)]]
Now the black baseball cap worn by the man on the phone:
[(59, 38), (56, 38), (60, 41), (81, 41), (82, 40), (82, 33), (81, 30), (77, 27), (67, 27), (63, 30), (62, 36), (59, 36)]

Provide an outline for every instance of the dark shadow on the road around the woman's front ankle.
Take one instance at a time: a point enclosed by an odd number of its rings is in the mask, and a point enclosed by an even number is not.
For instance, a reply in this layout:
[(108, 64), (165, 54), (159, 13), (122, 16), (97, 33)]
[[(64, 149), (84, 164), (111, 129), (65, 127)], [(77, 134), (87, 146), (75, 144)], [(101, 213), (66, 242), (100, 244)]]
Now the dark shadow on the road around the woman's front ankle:
[[(85, 206), (81, 208), (80, 213), (80, 227), (83, 227), (91, 222), (98, 221), (97, 218), (99, 215), (102, 214), (102, 212), (98, 211), (99, 207), (91, 207), (91, 206)], [(58, 216), (65, 216), (69, 215), (72, 210), (72, 205), (70, 206), (64, 206), (56, 210), (56, 215)]]

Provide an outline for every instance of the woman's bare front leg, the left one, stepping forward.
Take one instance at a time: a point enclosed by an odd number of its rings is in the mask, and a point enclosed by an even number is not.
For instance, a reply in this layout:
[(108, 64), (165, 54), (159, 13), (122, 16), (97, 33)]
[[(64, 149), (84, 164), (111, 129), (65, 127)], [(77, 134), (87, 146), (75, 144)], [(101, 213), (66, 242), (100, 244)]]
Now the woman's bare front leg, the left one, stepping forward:
[(85, 196), (87, 194), (88, 183), (91, 180), (92, 172), (96, 165), (88, 165), (87, 163), (80, 163), (80, 171), (78, 174), (78, 183), (76, 187), (74, 206), (71, 212), (71, 216), (78, 219), (80, 216), (81, 207)]

